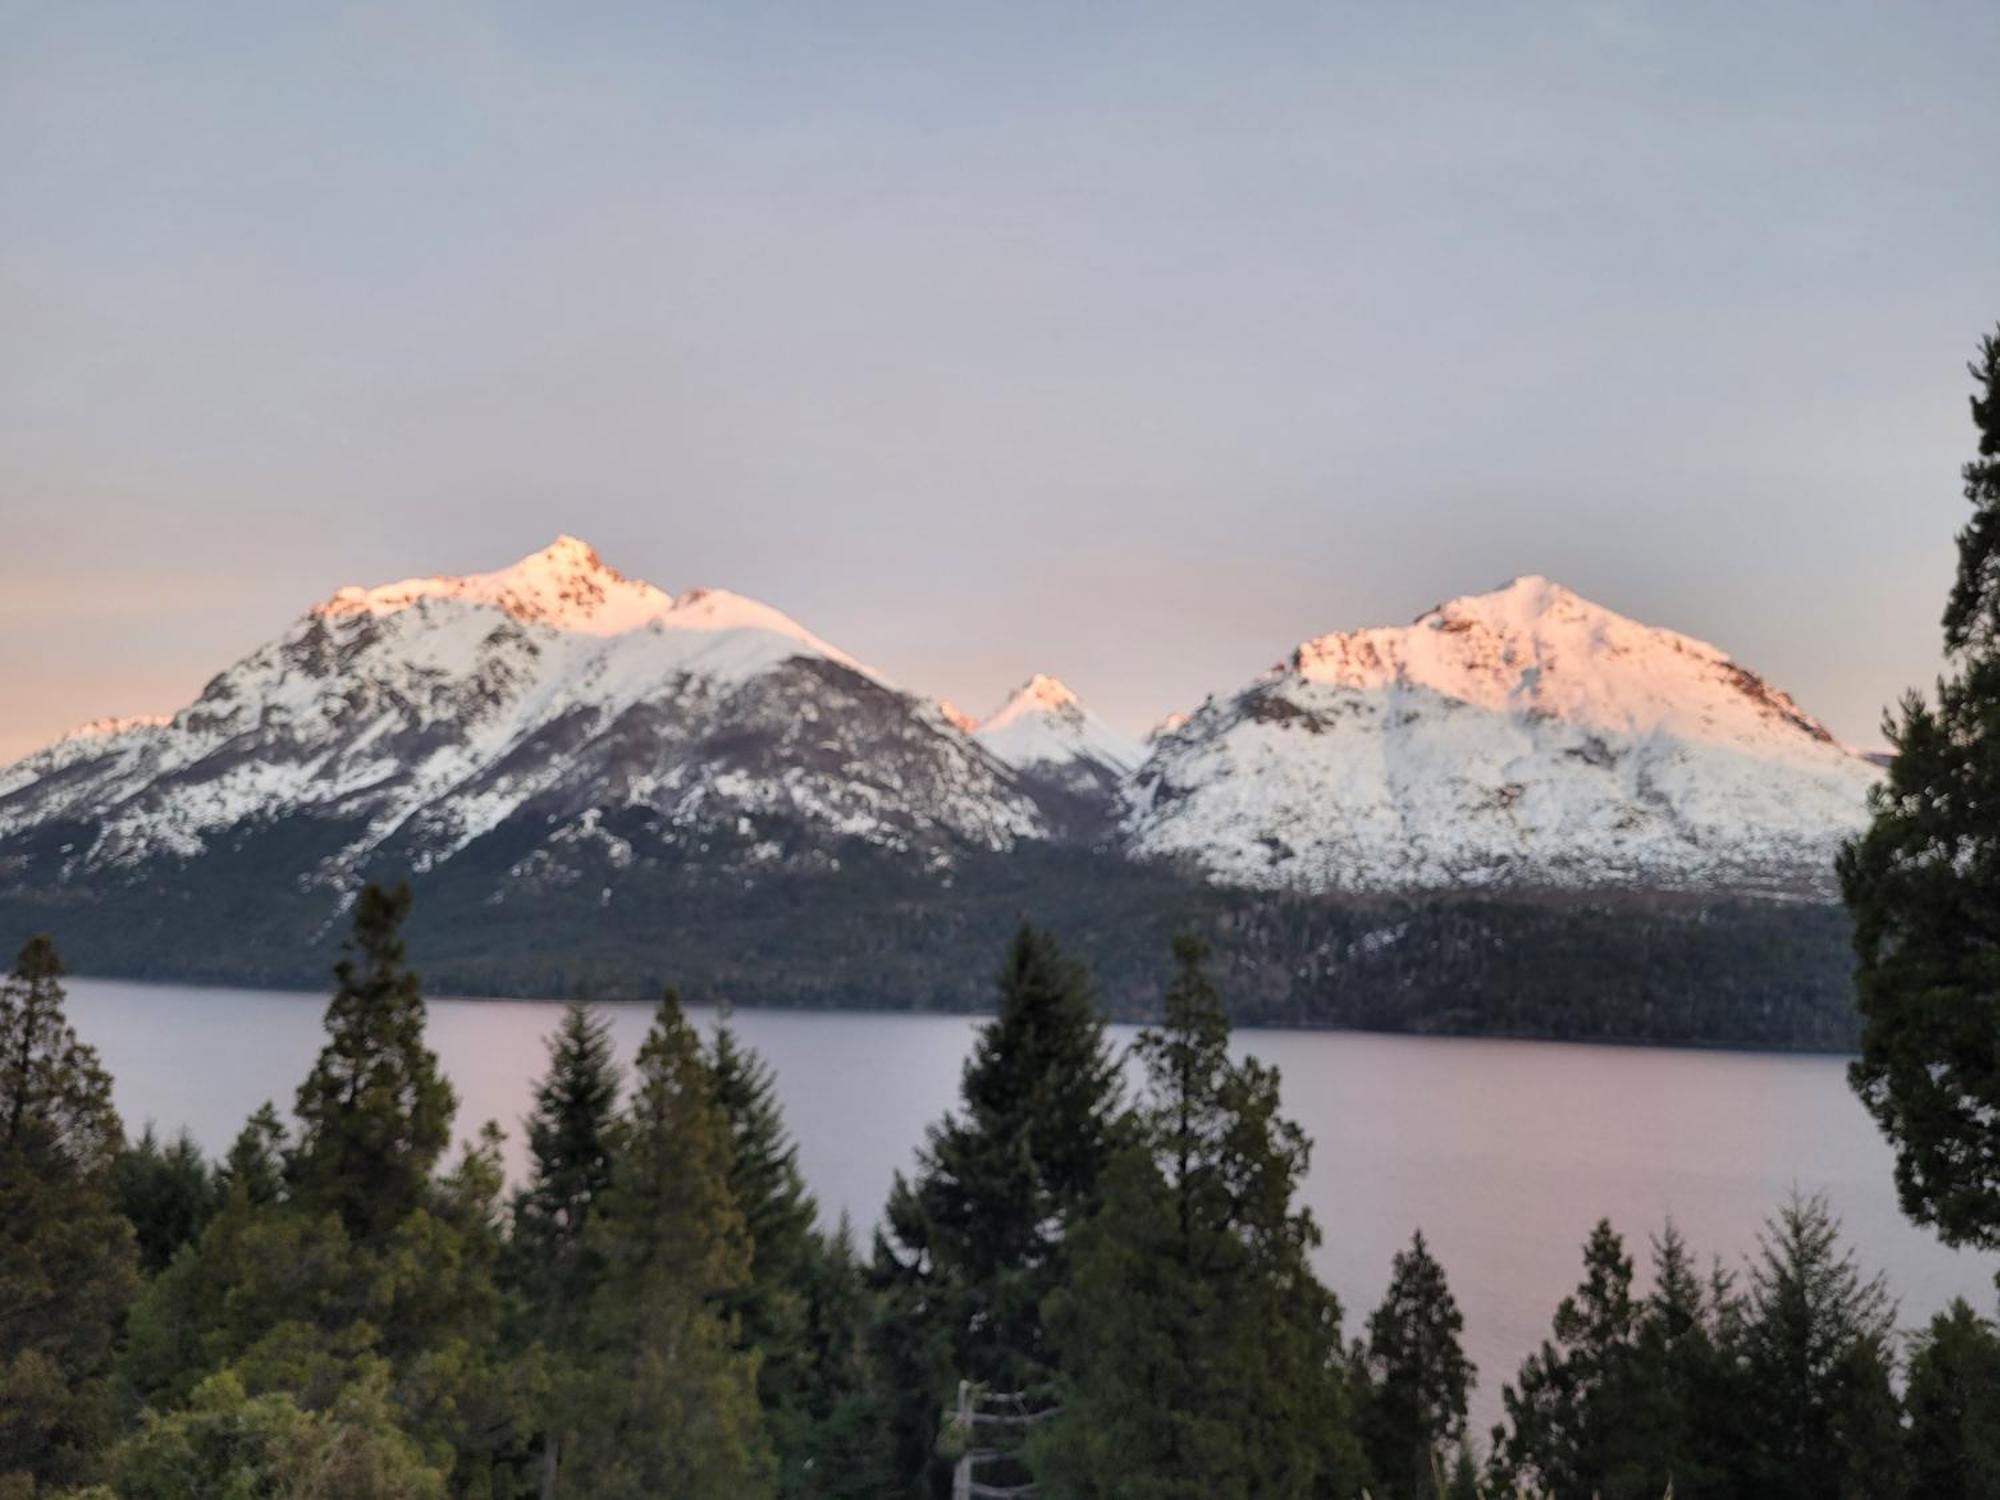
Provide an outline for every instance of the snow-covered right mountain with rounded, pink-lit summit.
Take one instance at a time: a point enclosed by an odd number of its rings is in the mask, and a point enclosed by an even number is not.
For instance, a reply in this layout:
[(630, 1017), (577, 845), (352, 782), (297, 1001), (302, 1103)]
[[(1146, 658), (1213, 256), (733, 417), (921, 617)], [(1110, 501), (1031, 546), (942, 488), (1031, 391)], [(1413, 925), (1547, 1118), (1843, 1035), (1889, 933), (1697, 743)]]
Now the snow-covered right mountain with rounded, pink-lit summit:
[(1266, 888), (1826, 894), (1878, 774), (1718, 648), (1518, 578), (1210, 700), (1124, 830)]

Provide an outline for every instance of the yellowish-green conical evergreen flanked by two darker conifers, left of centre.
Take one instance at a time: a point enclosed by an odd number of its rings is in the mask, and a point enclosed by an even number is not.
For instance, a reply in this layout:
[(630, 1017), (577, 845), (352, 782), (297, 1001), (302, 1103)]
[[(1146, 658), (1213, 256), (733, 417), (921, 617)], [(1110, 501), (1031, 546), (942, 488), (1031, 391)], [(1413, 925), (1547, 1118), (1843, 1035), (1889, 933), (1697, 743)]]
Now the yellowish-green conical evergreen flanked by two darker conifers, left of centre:
[(590, 1224), (592, 1400), (564, 1494), (748, 1500), (774, 1490), (756, 1356), (726, 1314), (750, 1280), (730, 1128), (700, 1040), (668, 990), (638, 1052), (610, 1190)]

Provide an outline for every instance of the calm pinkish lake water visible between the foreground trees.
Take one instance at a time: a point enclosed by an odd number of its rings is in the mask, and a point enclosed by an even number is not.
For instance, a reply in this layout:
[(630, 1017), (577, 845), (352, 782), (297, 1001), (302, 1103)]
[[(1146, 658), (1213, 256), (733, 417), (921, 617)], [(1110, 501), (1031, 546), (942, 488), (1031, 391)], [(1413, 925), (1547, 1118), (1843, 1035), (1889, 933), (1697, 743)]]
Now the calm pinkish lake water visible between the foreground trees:
[[(128, 1128), (186, 1126), (222, 1152), (260, 1102), (288, 1106), (322, 1040), (322, 996), (72, 980), (70, 1014), (116, 1078)], [(608, 1006), (630, 1062), (648, 1006)], [(432, 1000), (430, 1040), (458, 1088), (458, 1124), (508, 1130), (544, 1068), (560, 1006)], [(712, 1016), (696, 1012), (706, 1026)], [(950, 1016), (744, 1010), (738, 1034), (776, 1068), (798, 1154), (828, 1220), (868, 1228), (924, 1126), (954, 1100), (978, 1022)], [(1130, 1040), (1130, 1028), (1116, 1028)], [(1888, 1274), (1914, 1328), (1952, 1296), (1994, 1306), (1992, 1256), (1956, 1254), (1896, 1210), (1890, 1152), (1848, 1092), (1840, 1058), (1246, 1032), (1284, 1074), (1314, 1140), (1310, 1202), (1320, 1274), (1354, 1334), (1390, 1256), (1424, 1230), (1466, 1314), (1480, 1366), (1474, 1420), (1548, 1336), (1576, 1286), (1582, 1242), (1608, 1216), (1642, 1268), (1672, 1216), (1698, 1254), (1736, 1266), (1794, 1188), (1824, 1190), (1866, 1270)]]

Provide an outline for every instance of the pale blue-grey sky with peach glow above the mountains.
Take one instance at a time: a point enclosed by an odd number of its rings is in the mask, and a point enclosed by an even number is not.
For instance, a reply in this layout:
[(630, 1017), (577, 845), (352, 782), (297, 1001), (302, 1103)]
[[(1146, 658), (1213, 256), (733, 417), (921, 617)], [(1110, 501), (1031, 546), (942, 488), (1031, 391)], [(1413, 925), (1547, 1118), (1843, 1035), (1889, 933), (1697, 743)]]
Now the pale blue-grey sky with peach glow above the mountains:
[(1938, 670), (2000, 6), (0, 0), (0, 758), (574, 532), (1140, 730), (1540, 572)]

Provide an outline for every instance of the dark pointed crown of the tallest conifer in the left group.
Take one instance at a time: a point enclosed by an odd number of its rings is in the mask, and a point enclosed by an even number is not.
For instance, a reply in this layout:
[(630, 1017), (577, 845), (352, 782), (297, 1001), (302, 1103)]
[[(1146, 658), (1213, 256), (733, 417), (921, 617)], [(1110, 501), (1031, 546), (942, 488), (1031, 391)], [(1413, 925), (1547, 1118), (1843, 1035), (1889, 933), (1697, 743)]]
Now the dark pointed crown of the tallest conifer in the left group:
[(360, 1242), (420, 1208), (450, 1144), (456, 1100), (424, 1046), (424, 994), (404, 962), (410, 888), (364, 886), (348, 958), (334, 966), (326, 1046), (298, 1088), (298, 1196), (340, 1214)]

